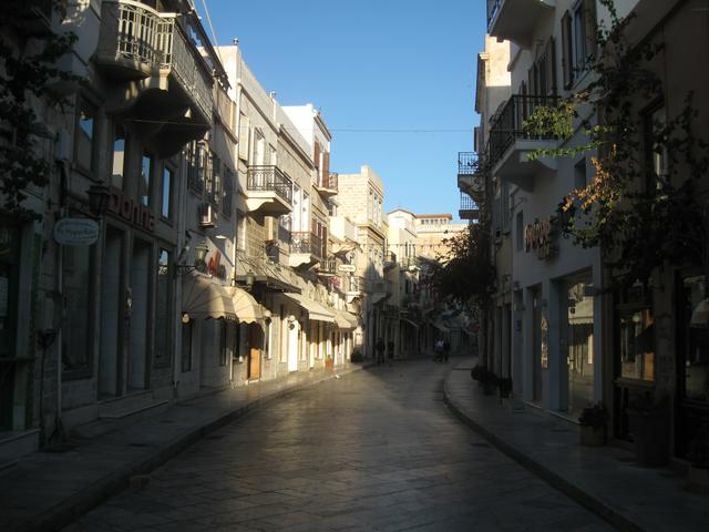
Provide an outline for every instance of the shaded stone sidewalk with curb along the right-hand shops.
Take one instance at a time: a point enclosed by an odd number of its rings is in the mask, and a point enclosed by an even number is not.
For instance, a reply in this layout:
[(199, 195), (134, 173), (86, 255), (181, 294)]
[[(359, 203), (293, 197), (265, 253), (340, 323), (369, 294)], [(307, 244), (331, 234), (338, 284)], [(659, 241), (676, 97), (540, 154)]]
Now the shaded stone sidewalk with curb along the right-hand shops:
[(470, 377), (474, 364), (456, 364), (445, 380), (445, 400), (504, 453), (619, 530), (709, 530), (709, 495), (687, 492), (681, 471), (640, 468), (631, 452), (615, 446), (582, 447), (573, 423), (534, 408), (512, 411), (477, 389)]

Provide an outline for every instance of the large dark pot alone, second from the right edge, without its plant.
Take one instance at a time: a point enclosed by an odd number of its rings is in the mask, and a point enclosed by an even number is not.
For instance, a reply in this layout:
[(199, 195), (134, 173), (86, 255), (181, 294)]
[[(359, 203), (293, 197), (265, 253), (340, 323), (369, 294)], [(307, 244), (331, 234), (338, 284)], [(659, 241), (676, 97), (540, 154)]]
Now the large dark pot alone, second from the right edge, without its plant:
[(657, 468), (669, 460), (669, 410), (628, 409), (635, 458), (640, 466)]

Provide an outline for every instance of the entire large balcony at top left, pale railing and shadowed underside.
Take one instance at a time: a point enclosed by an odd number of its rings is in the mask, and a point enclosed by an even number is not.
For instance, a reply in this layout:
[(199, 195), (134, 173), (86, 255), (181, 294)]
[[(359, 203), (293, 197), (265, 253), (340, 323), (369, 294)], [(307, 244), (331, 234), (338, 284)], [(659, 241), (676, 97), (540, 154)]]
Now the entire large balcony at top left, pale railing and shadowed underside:
[(140, 119), (138, 135), (151, 139), (161, 156), (201, 139), (212, 123), (212, 70), (187, 24), (184, 16), (132, 0), (101, 3), (93, 60), (115, 82), (107, 111)]

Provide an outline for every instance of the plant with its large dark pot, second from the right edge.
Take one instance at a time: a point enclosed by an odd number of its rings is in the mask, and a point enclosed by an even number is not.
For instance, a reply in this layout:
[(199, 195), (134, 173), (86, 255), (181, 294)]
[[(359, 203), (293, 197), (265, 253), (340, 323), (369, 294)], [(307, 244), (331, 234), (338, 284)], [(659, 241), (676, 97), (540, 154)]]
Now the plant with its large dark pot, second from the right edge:
[(669, 399), (646, 392), (626, 410), (635, 458), (640, 466), (657, 468), (669, 460)]

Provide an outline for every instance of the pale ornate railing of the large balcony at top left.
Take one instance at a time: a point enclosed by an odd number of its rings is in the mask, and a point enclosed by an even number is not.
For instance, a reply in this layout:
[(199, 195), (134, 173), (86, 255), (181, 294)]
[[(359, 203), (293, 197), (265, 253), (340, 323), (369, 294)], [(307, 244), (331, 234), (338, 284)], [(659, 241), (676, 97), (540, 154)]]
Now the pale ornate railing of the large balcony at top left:
[[(212, 75), (177, 13), (161, 13), (132, 0), (106, 0), (97, 54), (148, 72), (169, 70), (210, 121)], [(142, 65), (142, 66), (140, 66)]]

